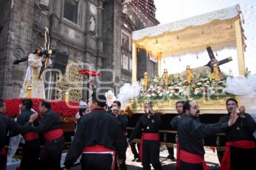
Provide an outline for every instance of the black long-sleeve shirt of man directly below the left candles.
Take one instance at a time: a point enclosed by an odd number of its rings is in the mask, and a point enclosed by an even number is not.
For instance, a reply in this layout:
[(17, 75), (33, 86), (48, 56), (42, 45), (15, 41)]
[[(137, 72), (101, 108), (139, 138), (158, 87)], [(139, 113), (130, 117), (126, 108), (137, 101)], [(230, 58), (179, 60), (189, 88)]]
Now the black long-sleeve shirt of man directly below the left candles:
[(142, 129), (143, 133), (158, 133), (160, 124), (161, 117), (159, 114), (152, 114), (149, 118), (146, 114), (142, 115), (130, 136), (129, 143), (141, 134)]

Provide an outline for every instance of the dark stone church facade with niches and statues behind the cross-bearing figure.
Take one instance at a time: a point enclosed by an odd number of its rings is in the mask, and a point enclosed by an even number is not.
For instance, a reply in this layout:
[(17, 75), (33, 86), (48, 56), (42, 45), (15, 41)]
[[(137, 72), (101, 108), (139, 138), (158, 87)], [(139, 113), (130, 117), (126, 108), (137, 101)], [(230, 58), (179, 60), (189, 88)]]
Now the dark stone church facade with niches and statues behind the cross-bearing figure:
[[(43, 46), (44, 27), (49, 28), (50, 48), (69, 53), (69, 63), (80, 65), (73, 67), (73, 72), (76, 69), (103, 69), (100, 80), (109, 83), (93, 82), (102, 92), (111, 88), (117, 94), (123, 83), (131, 82), (131, 32), (138, 28), (129, 15), (122, 12), (124, 3), (120, 0), (0, 2), (1, 98), (18, 98), (27, 62), (13, 65), (13, 61)], [(81, 76), (77, 76), (80, 79)], [(81, 83), (82, 87), (87, 86)], [(72, 83), (69, 86), (76, 87)], [(46, 96), (54, 99), (54, 95)], [(85, 90), (73, 100), (81, 96), (86, 96)]]

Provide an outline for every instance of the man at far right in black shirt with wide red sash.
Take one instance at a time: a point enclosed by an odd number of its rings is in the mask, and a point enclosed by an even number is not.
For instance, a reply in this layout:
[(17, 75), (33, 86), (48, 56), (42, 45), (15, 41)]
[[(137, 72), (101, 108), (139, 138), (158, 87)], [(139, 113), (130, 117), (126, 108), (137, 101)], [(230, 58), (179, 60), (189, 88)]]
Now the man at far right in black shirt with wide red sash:
[[(227, 122), (232, 111), (237, 109), (236, 99), (227, 99), (226, 108), (228, 114), (220, 117), (220, 122)], [(245, 113), (244, 107), (239, 107), (239, 115), (236, 123), (226, 129), (226, 147), (221, 162), (221, 169), (246, 169), (255, 167), (256, 148), (253, 132), (256, 124), (253, 118)], [(246, 167), (245, 167), (246, 166)]]

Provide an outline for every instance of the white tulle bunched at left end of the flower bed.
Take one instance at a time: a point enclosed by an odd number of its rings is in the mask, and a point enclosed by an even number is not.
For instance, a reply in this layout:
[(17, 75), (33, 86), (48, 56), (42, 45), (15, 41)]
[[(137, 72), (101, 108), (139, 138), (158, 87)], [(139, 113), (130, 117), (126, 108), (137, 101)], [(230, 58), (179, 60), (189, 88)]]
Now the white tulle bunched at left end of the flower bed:
[(140, 93), (140, 90), (141, 86), (139, 85), (138, 81), (133, 85), (130, 83), (125, 83), (120, 88), (119, 94), (117, 95), (117, 100), (121, 102), (121, 108), (125, 108), (128, 105), (129, 99), (137, 97)]

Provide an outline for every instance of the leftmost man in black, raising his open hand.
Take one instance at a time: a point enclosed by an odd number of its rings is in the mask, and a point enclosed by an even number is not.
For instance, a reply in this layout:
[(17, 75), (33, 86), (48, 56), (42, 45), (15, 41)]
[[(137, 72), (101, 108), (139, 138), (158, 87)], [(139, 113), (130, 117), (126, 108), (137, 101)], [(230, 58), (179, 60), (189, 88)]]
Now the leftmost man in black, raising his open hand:
[[(18, 124), (17, 122), (15, 122), (11, 117), (5, 116), (5, 112), (6, 112), (6, 105), (4, 103), (4, 101), (2, 99), (0, 99), (0, 119), (2, 119), (2, 121), (4, 122), (4, 126), (5, 126), (5, 135), (8, 133), (10, 136), (14, 136), (19, 134), (19, 133), (26, 133), (27, 131), (30, 130), (31, 125), (33, 123), (34, 120), (36, 120), (37, 118), (37, 114), (34, 113), (30, 116), (29, 121), (24, 124), (23, 126), (21, 126), (20, 124)], [(2, 131), (2, 129), (1, 129)], [(2, 132), (3, 133), (3, 132)], [(3, 150), (4, 148), (2, 148)], [(1, 150), (1, 151), (2, 151)], [(5, 150), (2, 151), (2, 156), (4, 157), (4, 167), (6, 166), (6, 154), (5, 154)]]

